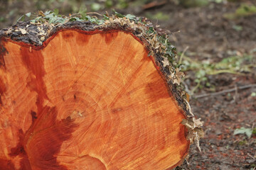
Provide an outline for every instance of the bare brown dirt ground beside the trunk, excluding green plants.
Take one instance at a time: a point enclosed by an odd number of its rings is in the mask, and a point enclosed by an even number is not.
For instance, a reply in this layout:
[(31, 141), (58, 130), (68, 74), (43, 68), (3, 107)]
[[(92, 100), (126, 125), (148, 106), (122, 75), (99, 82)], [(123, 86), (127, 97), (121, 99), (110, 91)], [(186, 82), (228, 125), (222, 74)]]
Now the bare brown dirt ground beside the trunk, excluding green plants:
[[(243, 1), (245, 2), (245, 1)], [(246, 1), (250, 2), (250, 1)], [(253, 0), (251, 1), (253, 2)], [(240, 2), (228, 4), (211, 3), (205, 7), (184, 8), (172, 3), (148, 10), (129, 7), (120, 12), (145, 16), (146, 13), (163, 12), (168, 20), (156, 21), (166, 30), (171, 31), (171, 42), (178, 52), (186, 47), (186, 55), (193, 60), (219, 62), (230, 56), (256, 51), (256, 15), (233, 20), (224, 17), (225, 13), (235, 12)], [(11, 23), (1, 23), (1, 27)], [(242, 30), (235, 29), (240, 26)], [(256, 53), (252, 53), (256, 57)], [(194, 86), (193, 72), (187, 86)], [(243, 85), (256, 84), (256, 71), (246, 76), (218, 74), (209, 77), (215, 84), (215, 91), (233, 89)], [(238, 89), (215, 96), (192, 98), (190, 103), (193, 113), (204, 122), (205, 137), (201, 140), (201, 152), (191, 145), (188, 162), (176, 169), (252, 169), (256, 167), (256, 135), (250, 139), (246, 135), (233, 135), (237, 128), (256, 127), (256, 97), (251, 96), (256, 87)], [(198, 94), (210, 94), (208, 89), (201, 89)]]

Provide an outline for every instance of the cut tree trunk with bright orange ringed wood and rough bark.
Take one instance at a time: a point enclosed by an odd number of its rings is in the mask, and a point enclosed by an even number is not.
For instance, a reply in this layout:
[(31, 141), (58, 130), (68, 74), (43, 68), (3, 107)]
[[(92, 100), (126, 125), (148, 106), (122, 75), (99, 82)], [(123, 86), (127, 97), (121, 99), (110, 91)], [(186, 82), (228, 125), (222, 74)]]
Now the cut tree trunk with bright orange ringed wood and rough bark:
[(173, 169), (188, 154), (178, 71), (143, 32), (19, 23), (0, 36), (0, 169)]

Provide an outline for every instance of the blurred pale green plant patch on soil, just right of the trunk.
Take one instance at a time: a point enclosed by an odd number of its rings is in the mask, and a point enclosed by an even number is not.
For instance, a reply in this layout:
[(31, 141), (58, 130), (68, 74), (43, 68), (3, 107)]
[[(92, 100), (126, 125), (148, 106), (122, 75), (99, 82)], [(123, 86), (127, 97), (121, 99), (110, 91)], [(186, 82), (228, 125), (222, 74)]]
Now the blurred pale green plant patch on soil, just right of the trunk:
[(253, 54), (232, 56), (217, 63), (210, 63), (192, 60), (182, 53), (180, 57), (181, 70), (183, 72), (193, 71), (196, 76), (196, 86), (193, 87), (189, 94), (193, 96), (198, 89), (203, 88), (202, 84), (205, 84), (207, 87), (213, 87), (208, 80), (208, 75), (228, 73), (245, 76), (246, 73), (253, 72), (253, 68), (256, 68), (256, 64), (253, 64), (255, 62), (253, 61), (253, 56)]

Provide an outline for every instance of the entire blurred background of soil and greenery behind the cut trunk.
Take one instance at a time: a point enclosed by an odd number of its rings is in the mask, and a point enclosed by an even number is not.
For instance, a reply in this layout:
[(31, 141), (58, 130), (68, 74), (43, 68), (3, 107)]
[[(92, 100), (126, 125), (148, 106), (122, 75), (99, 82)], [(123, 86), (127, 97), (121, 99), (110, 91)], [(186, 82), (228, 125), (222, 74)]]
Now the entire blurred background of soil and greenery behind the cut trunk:
[(24, 13), (97, 12), (149, 18), (170, 34), (193, 113), (204, 121), (202, 152), (176, 169), (256, 167), (255, 0), (0, 0), (0, 29)]

